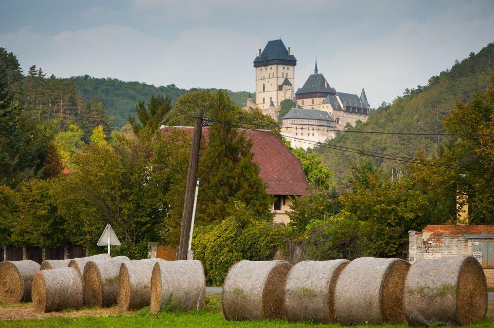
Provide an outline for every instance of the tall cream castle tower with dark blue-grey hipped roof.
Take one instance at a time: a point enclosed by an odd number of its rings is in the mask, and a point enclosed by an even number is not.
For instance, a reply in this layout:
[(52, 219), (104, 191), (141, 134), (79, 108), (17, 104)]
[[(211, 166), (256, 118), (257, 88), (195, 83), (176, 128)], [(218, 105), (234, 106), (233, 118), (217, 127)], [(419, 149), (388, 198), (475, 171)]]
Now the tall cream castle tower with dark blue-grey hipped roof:
[[(269, 41), (254, 60), (256, 69), (256, 105), (263, 112), (270, 105), (279, 108), (285, 99), (294, 99), (297, 60), (281, 40)], [(271, 106), (273, 107), (273, 106)]]

